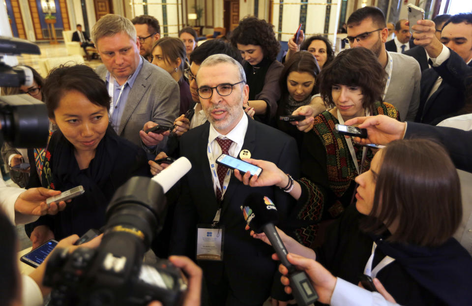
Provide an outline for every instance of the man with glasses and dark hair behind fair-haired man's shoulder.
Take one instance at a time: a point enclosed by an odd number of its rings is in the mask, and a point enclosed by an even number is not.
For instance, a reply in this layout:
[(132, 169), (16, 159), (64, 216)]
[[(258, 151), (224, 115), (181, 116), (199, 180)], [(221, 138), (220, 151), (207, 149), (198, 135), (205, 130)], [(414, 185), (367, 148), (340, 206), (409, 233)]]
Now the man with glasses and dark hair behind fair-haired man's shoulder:
[(136, 28), (136, 34), (141, 45), (139, 54), (148, 61), (152, 61), (152, 46), (161, 38), (159, 21), (150, 15), (134, 17), (131, 22)]

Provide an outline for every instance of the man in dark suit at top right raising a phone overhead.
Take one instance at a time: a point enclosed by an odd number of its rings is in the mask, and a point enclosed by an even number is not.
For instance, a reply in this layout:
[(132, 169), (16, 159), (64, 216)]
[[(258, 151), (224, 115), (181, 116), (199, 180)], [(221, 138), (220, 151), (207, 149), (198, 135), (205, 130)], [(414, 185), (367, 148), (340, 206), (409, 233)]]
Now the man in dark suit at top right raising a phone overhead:
[(424, 46), (433, 68), (421, 76), (420, 105), (415, 122), (437, 124), (460, 114), (466, 106), (465, 82), (472, 76), (472, 13), (452, 16), (442, 28), (441, 42), (434, 23), (413, 26), (417, 45)]

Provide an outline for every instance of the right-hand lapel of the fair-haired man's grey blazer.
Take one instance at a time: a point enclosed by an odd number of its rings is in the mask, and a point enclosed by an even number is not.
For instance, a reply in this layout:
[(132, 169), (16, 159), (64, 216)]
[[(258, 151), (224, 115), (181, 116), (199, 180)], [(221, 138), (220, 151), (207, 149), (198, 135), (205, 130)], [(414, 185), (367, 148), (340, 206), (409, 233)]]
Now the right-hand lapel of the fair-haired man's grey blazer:
[(152, 73), (151, 70), (148, 69), (148, 65), (150, 65), (150, 63), (148, 63), (147, 60), (143, 58), (143, 66), (141, 67), (141, 71), (139, 71), (138, 76), (134, 81), (133, 87), (129, 91), (128, 99), (126, 100), (126, 105), (124, 107), (123, 114), (121, 115), (118, 135), (121, 135), (124, 127), (126, 126), (126, 123), (128, 123), (131, 117), (131, 114), (134, 113), (134, 110), (139, 105), (143, 99), (144, 94), (148, 90), (150, 85), (148, 78)]

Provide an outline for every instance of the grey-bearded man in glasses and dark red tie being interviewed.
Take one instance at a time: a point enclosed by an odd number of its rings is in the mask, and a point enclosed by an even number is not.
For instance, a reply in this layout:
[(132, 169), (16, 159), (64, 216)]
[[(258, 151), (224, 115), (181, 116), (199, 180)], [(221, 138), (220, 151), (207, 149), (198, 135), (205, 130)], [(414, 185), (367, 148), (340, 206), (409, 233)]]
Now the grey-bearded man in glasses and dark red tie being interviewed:
[[(196, 257), (206, 278), (209, 305), (263, 305), (269, 296), (287, 300), (277, 264), (270, 258), (272, 248), (244, 230), (240, 206), (256, 190), (232, 177), (232, 170), (216, 160), (222, 153), (264, 159), (297, 178), (295, 140), (244, 113), (249, 87), (241, 64), (229, 56), (216, 54), (203, 61), (197, 86), (208, 121), (180, 139), (180, 155), (193, 167), (182, 179), (171, 254)], [(284, 227), (295, 200), (275, 186), (257, 191), (273, 200), (278, 225)]]

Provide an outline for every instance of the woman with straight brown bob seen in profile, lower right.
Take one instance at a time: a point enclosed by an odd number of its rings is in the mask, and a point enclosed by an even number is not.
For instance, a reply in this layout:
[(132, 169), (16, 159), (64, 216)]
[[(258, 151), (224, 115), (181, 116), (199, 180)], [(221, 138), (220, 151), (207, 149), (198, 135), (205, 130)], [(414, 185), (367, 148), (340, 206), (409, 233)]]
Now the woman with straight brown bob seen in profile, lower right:
[(462, 220), (460, 183), (445, 149), (393, 141), (355, 181), (357, 201), (328, 228), (324, 245), (313, 250), (278, 230), (287, 250), (353, 284), (376, 277), (400, 305), (470, 304), (472, 258), (452, 238)]

